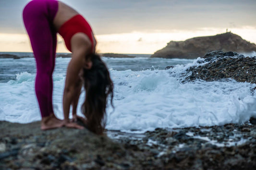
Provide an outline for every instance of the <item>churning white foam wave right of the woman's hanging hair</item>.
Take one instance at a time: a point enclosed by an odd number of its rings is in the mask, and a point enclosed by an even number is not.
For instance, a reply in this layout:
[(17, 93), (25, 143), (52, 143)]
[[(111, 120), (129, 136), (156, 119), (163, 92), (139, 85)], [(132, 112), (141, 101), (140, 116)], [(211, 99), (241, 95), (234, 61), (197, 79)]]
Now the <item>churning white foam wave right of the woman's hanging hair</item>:
[(111, 74), (116, 85), (116, 108), (107, 125), (111, 130), (143, 133), (156, 127), (242, 123), (256, 116), (256, 96), (251, 93), (255, 84), (200, 80), (181, 84), (164, 70)]

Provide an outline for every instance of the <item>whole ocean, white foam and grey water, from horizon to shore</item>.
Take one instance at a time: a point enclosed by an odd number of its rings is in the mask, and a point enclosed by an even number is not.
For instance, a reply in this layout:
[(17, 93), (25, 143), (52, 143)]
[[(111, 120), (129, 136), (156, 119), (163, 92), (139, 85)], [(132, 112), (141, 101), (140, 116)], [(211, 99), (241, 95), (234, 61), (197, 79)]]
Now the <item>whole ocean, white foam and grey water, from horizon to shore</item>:
[[(0, 58), (0, 120), (38, 121), (41, 116), (34, 90), (36, 65), (33, 53), (8, 54), (27, 57)], [(114, 82), (115, 107), (107, 107), (108, 130), (144, 133), (157, 127), (244, 123), (250, 117), (256, 117), (256, 94), (251, 91), (256, 84), (234, 80), (184, 82), (186, 70), (200, 65), (197, 61), (203, 59), (133, 56), (135, 58), (103, 57)], [(53, 105), (59, 118), (63, 118), (62, 93), (70, 59), (56, 58), (53, 74)], [(170, 65), (174, 67), (165, 70)], [(80, 116), (84, 98), (83, 90), (77, 110)]]

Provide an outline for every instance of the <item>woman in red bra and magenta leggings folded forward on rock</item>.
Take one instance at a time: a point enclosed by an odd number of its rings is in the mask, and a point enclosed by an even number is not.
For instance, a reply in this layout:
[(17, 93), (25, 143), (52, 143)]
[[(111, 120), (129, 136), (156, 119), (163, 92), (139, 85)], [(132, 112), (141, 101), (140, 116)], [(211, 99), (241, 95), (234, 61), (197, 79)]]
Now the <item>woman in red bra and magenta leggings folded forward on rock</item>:
[[(96, 40), (87, 21), (73, 8), (57, 0), (32, 0), (23, 11), (24, 25), (37, 63), (35, 90), (42, 116), (41, 129), (80, 128), (69, 120), (70, 106), (76, 120), (76, 106), (85, 85), (82, 112), (87, 127), (97, 134), (104, 130), (107, 98), (113, 98), (113, 83), (106, 65), (95, 54)], [(63, 93), (64, 120), (55, 117), (52, 108), (52, 73), (55, 65), (57, 32), (72, 52)], [(81, 81), (81, 77), (83, 81)]]

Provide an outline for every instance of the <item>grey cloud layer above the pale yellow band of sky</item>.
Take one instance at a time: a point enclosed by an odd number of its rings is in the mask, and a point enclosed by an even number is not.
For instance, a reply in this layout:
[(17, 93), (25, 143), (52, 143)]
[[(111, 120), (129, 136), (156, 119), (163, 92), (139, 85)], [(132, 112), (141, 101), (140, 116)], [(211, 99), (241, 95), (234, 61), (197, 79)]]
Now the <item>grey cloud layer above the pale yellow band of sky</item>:
[[(0, 0), (0, 32), (24, 33), (29, 0)], [(81, 12), (96, 34), (202, 27), (256, 26), (256, 0), (62, 0)]]

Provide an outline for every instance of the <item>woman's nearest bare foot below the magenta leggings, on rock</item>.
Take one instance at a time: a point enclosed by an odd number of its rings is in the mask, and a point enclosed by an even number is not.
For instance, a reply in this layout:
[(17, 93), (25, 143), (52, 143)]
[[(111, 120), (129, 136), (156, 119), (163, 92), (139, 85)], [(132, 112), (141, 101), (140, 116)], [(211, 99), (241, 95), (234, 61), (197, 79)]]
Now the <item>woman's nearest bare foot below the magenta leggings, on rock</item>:
[(54, 114), (51, 114), (48, 117), (42, 117), (41, 129), (48, 130), (53, 128), (63, 127), (63, 121), (55, 117)]

